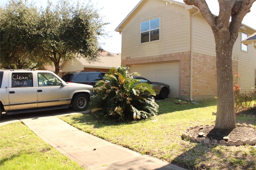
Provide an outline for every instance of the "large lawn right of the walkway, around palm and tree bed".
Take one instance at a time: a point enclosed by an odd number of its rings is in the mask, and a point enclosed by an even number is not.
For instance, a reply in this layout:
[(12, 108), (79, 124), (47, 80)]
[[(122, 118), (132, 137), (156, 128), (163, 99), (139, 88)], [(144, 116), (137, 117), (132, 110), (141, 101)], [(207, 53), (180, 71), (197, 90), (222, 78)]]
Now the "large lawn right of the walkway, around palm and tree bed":
[[(149, 154), (186, 169), (254, 169), (253, 146), (217, 146), (191, 143), (181, 139), (187, 127), (214, 124), (216, 100), (199, 105), (176, 104), (175, 100), (158, 102), (159, 115), (126, 123), (98, 120), (91, 113), (60, 117), (72, 126), (111, 143), (142, 154)], [(256, 125), (256, 118), (237, 117), (239, 123)]]

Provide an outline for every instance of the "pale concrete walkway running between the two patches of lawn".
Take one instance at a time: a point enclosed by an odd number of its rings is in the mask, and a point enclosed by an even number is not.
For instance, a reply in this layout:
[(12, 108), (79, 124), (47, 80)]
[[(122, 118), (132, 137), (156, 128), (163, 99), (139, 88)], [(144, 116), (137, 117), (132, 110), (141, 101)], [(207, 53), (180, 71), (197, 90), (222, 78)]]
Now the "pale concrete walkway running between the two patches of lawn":
[(88, 170), (184, 170), (84, 133), (56, 117), (58, 113), (15, 116), (52, 147)]

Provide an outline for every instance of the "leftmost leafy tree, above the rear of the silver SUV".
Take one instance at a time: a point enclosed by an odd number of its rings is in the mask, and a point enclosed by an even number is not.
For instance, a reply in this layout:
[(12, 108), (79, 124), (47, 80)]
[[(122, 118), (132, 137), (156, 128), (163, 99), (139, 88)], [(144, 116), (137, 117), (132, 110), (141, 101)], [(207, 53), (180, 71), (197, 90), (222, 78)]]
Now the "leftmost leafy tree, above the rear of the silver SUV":
[(38, 10), (22, 0), (0, 8), (1, 68), (37, 68), (44, 60), (37, 43)]

